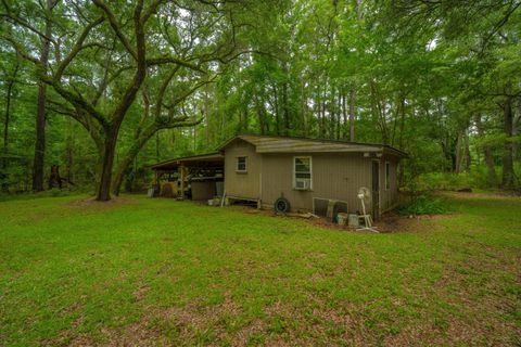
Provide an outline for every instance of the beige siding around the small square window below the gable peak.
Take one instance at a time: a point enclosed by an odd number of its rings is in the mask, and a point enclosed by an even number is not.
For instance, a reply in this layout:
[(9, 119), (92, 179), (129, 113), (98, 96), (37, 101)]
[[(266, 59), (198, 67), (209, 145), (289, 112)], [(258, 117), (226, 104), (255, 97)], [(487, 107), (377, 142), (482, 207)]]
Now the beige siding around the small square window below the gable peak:
[[(237, 171), (237, 158), (246, 157), (246, 172)], [(255, 146), (237, 140), (225, 149), (226, 195), (244, 198), (260, 198), (260, 167), (263, 158)]]

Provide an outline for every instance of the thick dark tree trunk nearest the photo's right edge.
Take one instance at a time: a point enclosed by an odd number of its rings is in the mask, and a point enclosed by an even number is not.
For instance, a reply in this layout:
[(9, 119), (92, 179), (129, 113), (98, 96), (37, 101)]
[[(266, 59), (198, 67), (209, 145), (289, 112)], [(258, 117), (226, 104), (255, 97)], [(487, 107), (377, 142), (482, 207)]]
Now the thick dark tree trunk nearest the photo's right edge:
[(513, 189), (516, 185), (513, 174), (513, 113), (512, 113), (512, 98), (506, 97), (503, 105), (504, 129), (506, 142), (503, 152), (503, 180), (501, 187), (504, 189)]

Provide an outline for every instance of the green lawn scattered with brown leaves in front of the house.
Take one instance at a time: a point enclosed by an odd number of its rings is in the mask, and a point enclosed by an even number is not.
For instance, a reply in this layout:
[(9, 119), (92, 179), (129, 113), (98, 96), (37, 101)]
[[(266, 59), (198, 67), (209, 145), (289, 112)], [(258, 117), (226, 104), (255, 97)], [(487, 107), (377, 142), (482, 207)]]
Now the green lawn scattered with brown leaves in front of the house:
[(519, 345), (521, 200), (355, 233), (171, 200), (0, 203), (0, 345)]

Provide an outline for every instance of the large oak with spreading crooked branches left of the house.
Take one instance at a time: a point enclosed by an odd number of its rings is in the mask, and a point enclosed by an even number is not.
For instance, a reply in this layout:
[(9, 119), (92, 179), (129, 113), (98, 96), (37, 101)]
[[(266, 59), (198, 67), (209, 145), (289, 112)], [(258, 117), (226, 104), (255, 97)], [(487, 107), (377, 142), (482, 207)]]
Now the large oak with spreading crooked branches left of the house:
[[(181, 115), (179, 105), (212, 82), (220, 64), (247, 51), (241, 33), (259, 7), (254, 1), (72, 1), (53, 3), (54, 11), (43, 14), (49, 26), (42, 31), (27, 21), (35, 10), (30, 2), (2, 3), (3, 17), (30, 38), (7, 33), (4, 39), (60, 97), (51, 101), (53, 110), (78, 120), (99, 149), (100, 201), (111, 198), (112, 184), (118, 192), (126, 167), (156, 131), (198, 123)], [(50, 68), (35, 55), (36, 40), (52, 46)], [(147, 80), (158, 87), (143, 92), (147, 112), (113, 181), (119, 130)]]

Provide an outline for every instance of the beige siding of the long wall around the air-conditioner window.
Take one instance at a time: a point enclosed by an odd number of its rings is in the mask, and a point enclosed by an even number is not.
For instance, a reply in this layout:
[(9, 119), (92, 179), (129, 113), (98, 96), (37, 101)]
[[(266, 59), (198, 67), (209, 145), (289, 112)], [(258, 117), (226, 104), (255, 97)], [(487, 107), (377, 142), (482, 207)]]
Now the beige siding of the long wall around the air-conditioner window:
[[(293, 158), (312, 156), (313, 190), (293, 189)], [(346, 201), (352, 213), (360, 210), (358, 188), (371, 188), (371, 158), (363, 153), (263, 154), (262, 201), (272, 205), (283, 195), (293, 210), (313, 209), (313, 197)]]

